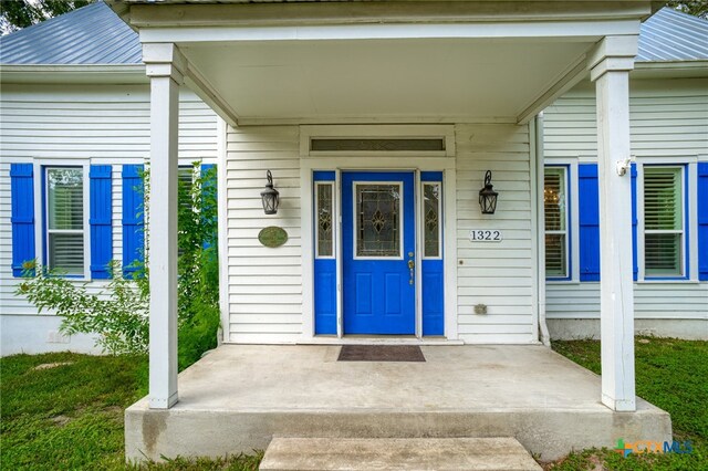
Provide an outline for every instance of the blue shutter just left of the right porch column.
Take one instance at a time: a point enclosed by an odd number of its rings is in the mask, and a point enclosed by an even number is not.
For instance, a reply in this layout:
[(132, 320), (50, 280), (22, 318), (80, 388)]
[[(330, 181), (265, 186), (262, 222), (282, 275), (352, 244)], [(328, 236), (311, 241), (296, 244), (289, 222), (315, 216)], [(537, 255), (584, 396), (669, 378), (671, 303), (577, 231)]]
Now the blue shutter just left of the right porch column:
[(600, 281), (600, 197), (597, 165), (577, 166), (580, 281)]

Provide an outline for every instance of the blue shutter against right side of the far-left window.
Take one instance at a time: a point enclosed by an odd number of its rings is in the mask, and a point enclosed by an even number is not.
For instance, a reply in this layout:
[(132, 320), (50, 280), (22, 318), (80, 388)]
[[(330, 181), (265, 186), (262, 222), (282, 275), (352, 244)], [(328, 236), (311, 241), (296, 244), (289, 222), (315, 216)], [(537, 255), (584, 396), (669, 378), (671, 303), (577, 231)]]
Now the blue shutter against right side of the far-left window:
[(91, 278), (111, 278), (108, 263), (113, 259), (113, 185), (110, 165), (92, 165), (88, 170), (91, 226)]

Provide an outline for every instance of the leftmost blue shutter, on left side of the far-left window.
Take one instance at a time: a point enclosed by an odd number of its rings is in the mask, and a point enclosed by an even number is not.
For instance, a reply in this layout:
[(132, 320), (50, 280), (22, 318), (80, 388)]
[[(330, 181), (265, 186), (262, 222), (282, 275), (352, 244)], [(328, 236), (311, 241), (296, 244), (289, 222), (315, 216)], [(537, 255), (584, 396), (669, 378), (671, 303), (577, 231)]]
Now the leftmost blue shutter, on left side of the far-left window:
[(12, 201), (12, 275), (22, 276), (22, 264), (34, 260), (34, 166), (10, 164)]

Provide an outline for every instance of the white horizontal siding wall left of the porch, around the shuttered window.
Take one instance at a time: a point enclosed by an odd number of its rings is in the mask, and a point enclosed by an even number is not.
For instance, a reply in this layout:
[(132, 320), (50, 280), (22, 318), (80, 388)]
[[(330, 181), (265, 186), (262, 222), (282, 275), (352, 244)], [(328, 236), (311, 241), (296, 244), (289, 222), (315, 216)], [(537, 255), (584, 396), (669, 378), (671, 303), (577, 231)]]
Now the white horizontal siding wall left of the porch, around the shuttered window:
[[(113, 165), (113, 255), (122, 259), (122, 164), (142, 164), (149, 156), (147, 85), (2, 84), (0, 95), (0, 307), (1, 354), (76, 350), (96, 353), (91, 336), (59, 335), (59, 321), (14, 294), (10, 224), (10, 164), (52, 159), (70, 164)], [(180, 159), (216, 161), (216, 115), (191, 93), (180, 103)], [(88, 284), (101, 291), (106, 281)]]

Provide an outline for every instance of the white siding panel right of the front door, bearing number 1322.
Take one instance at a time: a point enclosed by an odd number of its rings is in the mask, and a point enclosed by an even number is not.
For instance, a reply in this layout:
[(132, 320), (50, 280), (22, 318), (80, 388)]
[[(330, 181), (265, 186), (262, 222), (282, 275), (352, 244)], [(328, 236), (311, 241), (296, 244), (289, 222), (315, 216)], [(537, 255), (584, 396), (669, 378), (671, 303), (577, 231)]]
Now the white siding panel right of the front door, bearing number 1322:
[[(531, 343), (533, 260), (529, 128), (458, 125), (457, 276), (458, 332), (469, 343)], [(479, 189), (492, 171), (497, 212), (482, 216)], [(472, 229), (500, 229), (503, 241), (471, 242)], [(487, 314), (473, 313), (486, 304)]]

